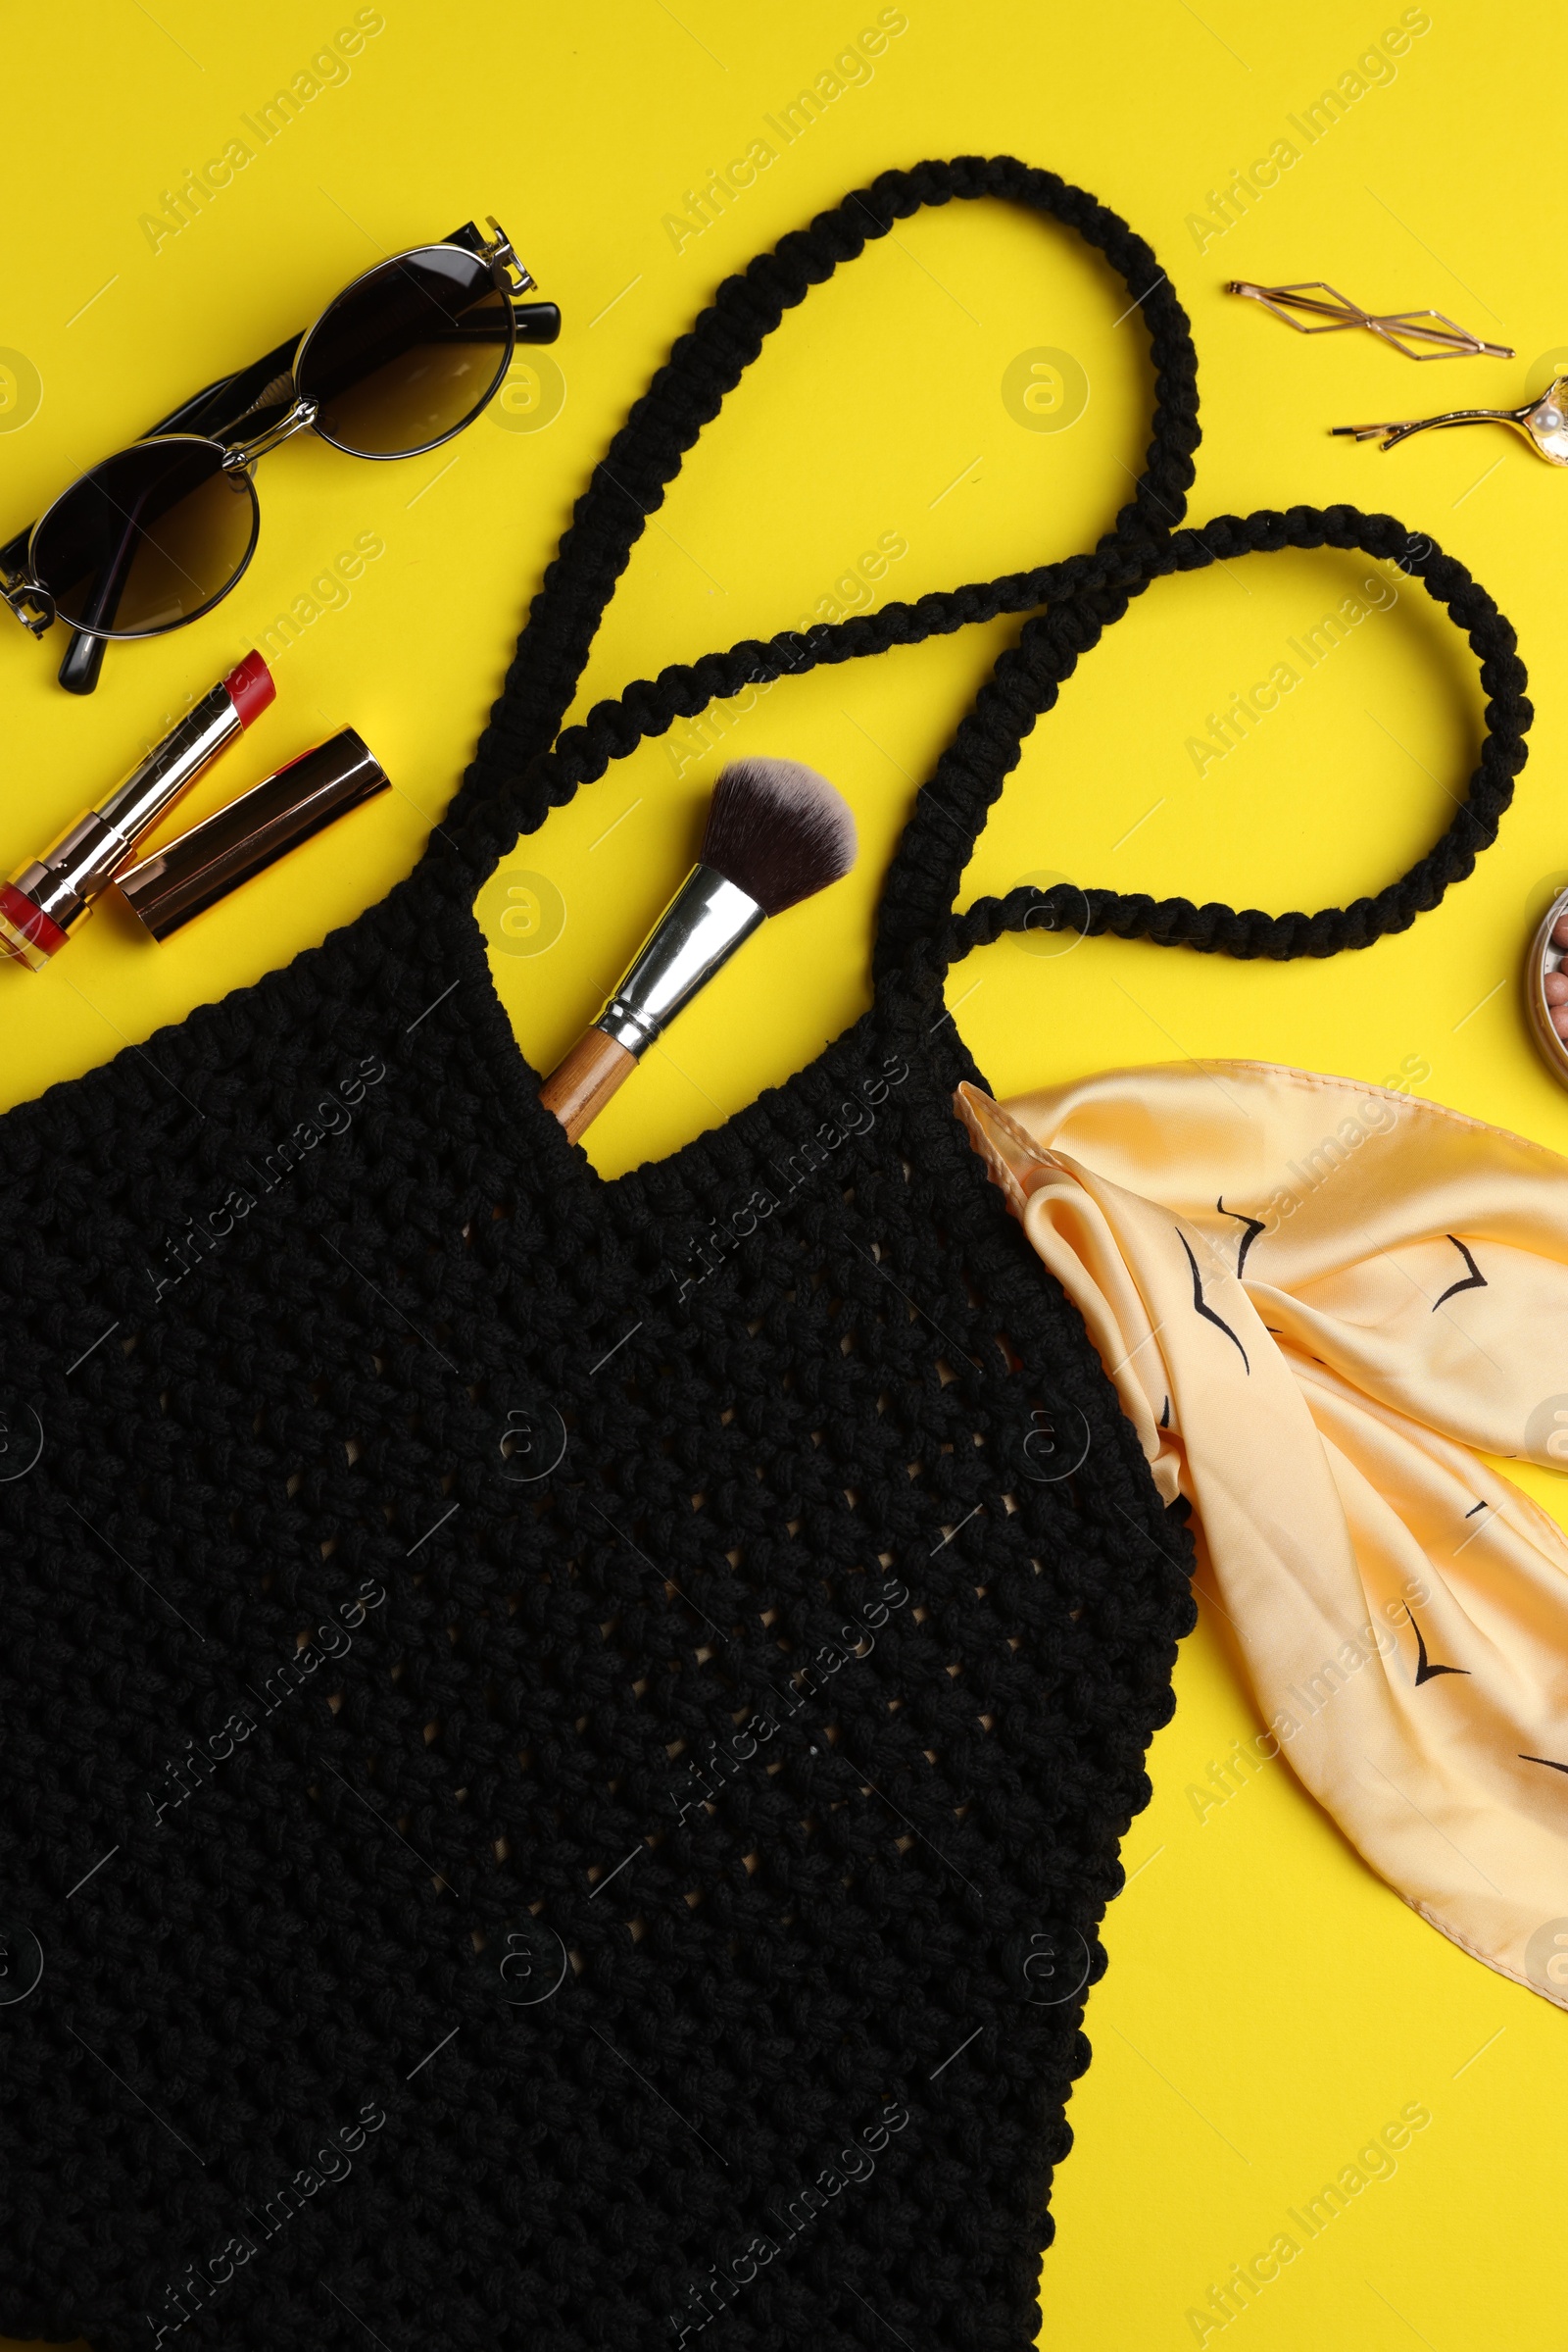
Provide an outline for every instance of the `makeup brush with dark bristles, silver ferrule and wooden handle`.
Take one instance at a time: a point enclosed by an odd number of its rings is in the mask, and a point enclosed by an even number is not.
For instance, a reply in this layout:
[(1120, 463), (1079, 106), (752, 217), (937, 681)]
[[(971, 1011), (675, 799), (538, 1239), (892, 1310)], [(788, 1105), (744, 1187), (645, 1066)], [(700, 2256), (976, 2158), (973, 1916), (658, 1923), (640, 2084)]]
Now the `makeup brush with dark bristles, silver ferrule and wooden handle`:
[(538, 1089), (571, 1143), (743, 938), (853, 863), (856, 821), (825, 776), (797, 760), (731, 760), (712, 790), (698, 863), (595, 1025)]

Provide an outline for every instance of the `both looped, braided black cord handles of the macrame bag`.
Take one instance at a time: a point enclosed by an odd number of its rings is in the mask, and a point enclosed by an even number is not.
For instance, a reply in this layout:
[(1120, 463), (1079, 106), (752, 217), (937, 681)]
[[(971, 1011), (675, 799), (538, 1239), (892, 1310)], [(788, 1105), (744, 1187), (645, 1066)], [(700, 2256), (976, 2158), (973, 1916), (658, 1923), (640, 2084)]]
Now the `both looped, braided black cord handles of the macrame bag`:
[[(877, 614), (804, 633), (748, 640), (696, 663), (675, 663), (654, 680), (632, 682), (618, 699), (597, 703), (583, 724), (555, 739), (646, 515), (658, 510), (684, 452), (703, 423), (717, 416), (724, 395), (757, 358), (764, 336), (780, 325), (785, 308), (804, 301), (809, 287), (830, 278), (839, 261), (858, 256), (872, 238), (886, 235), (893, 221), (922, 205), (980, 195), (1011, 198), (1065, 221), (1112, 261), (1128, 292), (1143, 280), (1135, 301), (1150, 325), (1157, 407), (1147, 468), (1114, 527), (1093, 550), (1030, 572), (931, 593), (912, 604), (886, 604)], [(1418, 539), (1392, 515), (1363, 515), (1352, 506), (1295, 506), (1288, 513), (1262, 508), (1244, 517), (1220, 515), (1204, 529), (1182, 529), (1197, 440), (1197, 355), (1187, 318), (1150, 247), (1126, 221), (1053, 172), (1009, 155), (884, 172), (867, 191), (818, 214), (811, 228), (792, 230), (741, 275), (724, 280), (632, 407), (545, 572), (505, 691), (437, 835), (437, 854), (456, 851), (461, 887), (473, 889), (520, 833), (543, 823), (550, 807), (564, 804), (581, 783), (597, 781), (611, 760), (625, 757), (646, 736), (665, 734), (677, 717), (693, 717), (710, 701), (820, 663), (917, 644), (1001, 612), (1032, 612), (1018, 644), (1001, 654), (917, 795), (882, 898), (875, 955), (879, 997), (912, 990), (919, 1004), (933, 1002), (950, 962), (1004, 929), (1112, 931), (1117, 938), (1152, 938), (1157, 946), (1244, 960), (1338, 955), (1408, 929), (1420, 913), (1439, 906), (1453, 882), (1472, 873), (1476, 854), (1497, 837), (1497, 823), (1512, 802), (1533, 720), (1514, 630), (1455, 557), (1434, 541)], [(954, 915), (952, 901), (985, 814), (1018, 767), (1037, 717), (1053, 708), (1079, 656), (1098, 644), (1131, 600), (1171, 572), (1321, 546), (1359, 548), (1420, 579), (1427, 595), (1467, 633), (1481, 661), (1488, 694), (1481, 757), (1465, 802), (1455, 807), (1436, 844), (1375, 896), (1314, 915), (1237, 910), (1220, 901), (1157, 901), (1143, 891), (1079, 891), (1072, 884), (980, 898)]]

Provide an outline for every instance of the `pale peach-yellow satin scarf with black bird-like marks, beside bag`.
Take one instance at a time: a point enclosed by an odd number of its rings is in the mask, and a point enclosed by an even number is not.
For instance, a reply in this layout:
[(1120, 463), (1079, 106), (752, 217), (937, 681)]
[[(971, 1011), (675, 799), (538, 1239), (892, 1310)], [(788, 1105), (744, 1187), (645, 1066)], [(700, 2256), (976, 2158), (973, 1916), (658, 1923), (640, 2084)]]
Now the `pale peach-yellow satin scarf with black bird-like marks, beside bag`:
[(1267, 1063), (959, 1112), (1194, 1505), (1258, 1755), (1568, 2009), (1568, 1541), (1474, 1451), (1568, 1468), (1568, 1162)]

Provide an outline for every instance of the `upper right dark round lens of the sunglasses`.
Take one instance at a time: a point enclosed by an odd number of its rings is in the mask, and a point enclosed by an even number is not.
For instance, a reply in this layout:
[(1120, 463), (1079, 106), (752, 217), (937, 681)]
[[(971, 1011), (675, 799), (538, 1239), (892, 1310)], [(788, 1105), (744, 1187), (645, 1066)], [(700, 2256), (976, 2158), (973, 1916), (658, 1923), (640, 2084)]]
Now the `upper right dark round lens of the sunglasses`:
[(512, 355), (487, 261), (425, 245), (355, 280), (306, 336), (294, 381), (315, 430), (353, 456), (414, 456), (480, 414)]

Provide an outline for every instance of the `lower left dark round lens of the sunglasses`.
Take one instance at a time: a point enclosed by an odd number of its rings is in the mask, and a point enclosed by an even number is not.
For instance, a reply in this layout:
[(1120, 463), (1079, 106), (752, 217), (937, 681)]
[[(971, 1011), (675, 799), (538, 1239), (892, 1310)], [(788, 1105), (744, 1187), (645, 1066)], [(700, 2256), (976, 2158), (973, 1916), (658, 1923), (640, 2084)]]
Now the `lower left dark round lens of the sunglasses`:
[(61, 621), (153, 637), (207, 612), (256, 543), (256, 492), (205, 440), (150, 440), (85, 473), (33, 534)]

